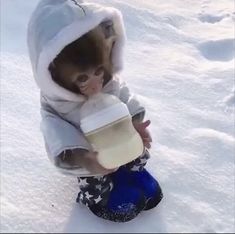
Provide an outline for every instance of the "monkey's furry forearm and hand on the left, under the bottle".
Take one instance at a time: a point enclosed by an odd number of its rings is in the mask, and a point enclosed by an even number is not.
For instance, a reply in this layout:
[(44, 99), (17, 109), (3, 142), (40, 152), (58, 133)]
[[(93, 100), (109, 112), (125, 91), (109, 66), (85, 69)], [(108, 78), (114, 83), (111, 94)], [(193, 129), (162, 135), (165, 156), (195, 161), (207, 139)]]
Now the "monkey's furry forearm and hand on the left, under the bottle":
[(84, 149), (74, 149), (69, 150), (69, 153), (66, 152), (59, 156), (62, 161), (60, 166), (63, 168), (73, 169), (76, 167), (84, 167), (91, 173), (101, 175), (106, 175), (117, 170), (109, 170), (102, 167), (97, 160), (98, 152), (87, 151)]

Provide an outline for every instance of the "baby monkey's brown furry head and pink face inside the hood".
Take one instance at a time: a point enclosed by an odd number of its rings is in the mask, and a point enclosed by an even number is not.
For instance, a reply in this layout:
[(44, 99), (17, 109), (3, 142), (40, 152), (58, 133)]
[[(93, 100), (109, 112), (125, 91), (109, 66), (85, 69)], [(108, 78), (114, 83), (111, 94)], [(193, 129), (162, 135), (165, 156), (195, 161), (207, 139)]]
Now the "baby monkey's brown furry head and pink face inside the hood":
[(112, 79), (113, 22), (102, 22), (66, 46), (49, 65), (52, 79), (77, 94), (98, 93)]

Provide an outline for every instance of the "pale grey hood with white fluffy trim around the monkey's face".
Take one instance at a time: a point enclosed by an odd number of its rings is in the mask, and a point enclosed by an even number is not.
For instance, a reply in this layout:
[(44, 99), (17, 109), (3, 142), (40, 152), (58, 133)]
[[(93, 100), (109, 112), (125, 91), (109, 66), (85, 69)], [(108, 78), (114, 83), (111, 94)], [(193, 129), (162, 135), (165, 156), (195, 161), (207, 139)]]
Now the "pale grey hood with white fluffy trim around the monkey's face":
[(44, 95), (53, 100), (82, 101), (84, 97), (52, 80), (48, 66), (66, 45), (107, 19), (113, 20), (117, 33), (112, 62), (114, 72), (118, 72), (123, 64), (125, 32), (122, 15), (117, 9), (78, 0), (39, 2), (28, 26), (28, 49), (36, 83)]

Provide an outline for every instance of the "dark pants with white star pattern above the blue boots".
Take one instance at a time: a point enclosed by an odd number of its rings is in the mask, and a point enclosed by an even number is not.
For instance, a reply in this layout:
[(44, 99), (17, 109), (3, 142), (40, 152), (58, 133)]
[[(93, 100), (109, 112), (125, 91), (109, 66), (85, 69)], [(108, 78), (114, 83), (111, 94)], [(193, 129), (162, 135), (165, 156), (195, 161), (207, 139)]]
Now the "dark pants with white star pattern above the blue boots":
[[(136, 160), (124, 165), (130, 171), (142, 171), (150, 158), (148, 151), (137, 158)], [(113, 182), (109, 175), (78, 177), (79, 193), (77, 202), (86, 206), (91, 206), (97, 203), (106, 204), (109, 193), (113, 188)]]

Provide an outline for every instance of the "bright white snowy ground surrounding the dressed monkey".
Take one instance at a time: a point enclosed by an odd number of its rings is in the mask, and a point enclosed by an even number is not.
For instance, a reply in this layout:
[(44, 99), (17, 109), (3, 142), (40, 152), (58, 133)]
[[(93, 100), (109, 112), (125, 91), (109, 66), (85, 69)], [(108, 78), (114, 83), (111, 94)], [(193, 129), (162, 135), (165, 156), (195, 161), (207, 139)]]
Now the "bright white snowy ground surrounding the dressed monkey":
[(235, 232), (233, 0), (94, 0), (127, 27), (123, 76), (145, 103), (157, 209), (117, 224), (75, 203), (39, 130), (26, 49), (37, 0), (1, 0), (1, 232)]

